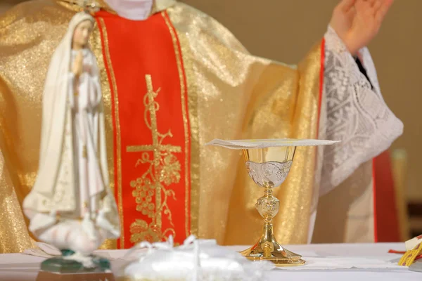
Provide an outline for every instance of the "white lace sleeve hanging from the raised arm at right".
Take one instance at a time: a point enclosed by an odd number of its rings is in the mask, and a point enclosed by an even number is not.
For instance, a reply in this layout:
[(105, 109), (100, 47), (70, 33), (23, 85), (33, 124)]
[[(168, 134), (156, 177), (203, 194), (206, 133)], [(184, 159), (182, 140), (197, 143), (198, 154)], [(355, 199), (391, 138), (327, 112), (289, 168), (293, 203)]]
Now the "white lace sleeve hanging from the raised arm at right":
[(387, 150), (403, 131), (402, 122), (381, 96), (369, 51), (364, 48), (360, 55), (373, 89), (331, 27), (325, 41), (326, 138), (342, 142), (324, 149), (320, 195)]

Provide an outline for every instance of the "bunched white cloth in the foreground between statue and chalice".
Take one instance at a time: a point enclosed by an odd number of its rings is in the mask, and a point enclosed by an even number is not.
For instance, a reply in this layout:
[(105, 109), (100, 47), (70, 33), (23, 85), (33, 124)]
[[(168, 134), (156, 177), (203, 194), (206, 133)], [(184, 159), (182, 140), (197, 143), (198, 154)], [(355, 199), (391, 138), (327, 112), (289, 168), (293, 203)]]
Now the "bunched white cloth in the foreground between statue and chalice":
[(186, 280), (186, 281), (262, 281), (272, 263), (254, 263), (237, 251), (217, 245), (215, 240), (196, 240), (188, 237), (180, 247), (167, 242), (142, 242), (137, 248), (148, 251), (122, 268), (117, 277), (130, 280)]

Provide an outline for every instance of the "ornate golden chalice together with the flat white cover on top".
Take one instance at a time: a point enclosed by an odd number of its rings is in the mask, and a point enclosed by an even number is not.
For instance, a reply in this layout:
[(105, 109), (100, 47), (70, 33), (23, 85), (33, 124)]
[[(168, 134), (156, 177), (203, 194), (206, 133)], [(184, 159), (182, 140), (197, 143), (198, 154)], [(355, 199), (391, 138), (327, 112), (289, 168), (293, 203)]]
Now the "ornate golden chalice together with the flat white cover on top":
[(207, 145), (217, 145), (232, 150), (243, 150), (246, 169), (250, 178), (264, 188), (264, 196), (255, 204), (264, 218), (262, 235), (258, 242), (241, 251), (252, 261), (272, 261), (276, 266), (302, 266), (302, 256), (284, 248), (274, 235), (272, 219), (279, 212), (280, 201), (272, 195), (273, 188), (279, 187), (286, 179), (298, 146), (332, 145), (338, 141), (262, 139), (224, 141), (215, 139)]

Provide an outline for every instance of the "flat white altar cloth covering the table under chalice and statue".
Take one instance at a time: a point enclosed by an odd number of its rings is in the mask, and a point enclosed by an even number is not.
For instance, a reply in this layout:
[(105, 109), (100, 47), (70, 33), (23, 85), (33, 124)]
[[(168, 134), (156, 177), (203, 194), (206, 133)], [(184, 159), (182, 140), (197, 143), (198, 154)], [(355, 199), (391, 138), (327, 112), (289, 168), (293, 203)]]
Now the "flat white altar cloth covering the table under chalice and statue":
[[(233, 246), (235, 250), (246, 247)], [(290, 251), (302, 254), (306, 266), (276, 268), (268, 273), (269, 280), (422, 280), (422, 273), (397, 266), (399, 254), (388, 254), (389, 249), (404, 250), (404, 243), (378, 244), (310, 244), (288, 246)], [(127, 250), (101, 251), (109, 255), (113, 271), (124, 261)], [(39, 263), (44, 258), (24, 254), (0, 254), (0, 280), (34, 281)]]

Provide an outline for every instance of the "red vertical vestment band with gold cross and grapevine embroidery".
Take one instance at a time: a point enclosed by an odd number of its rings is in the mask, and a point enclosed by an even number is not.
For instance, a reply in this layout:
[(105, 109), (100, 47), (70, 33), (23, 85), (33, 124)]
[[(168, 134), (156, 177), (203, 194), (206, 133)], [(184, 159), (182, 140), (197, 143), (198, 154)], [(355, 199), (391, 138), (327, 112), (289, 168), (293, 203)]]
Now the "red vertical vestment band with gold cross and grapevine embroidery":
[(167, 13), (132, 21), (96, 14), (110, 81), (119, 248), (190, 234), (186, 79)]

